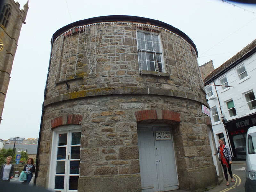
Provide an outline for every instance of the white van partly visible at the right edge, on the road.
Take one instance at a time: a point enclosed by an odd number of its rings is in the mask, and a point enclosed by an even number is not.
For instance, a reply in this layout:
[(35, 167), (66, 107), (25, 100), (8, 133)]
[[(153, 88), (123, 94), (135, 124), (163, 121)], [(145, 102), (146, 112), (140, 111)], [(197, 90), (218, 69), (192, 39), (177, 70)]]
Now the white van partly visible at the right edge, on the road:
[(250, 127), (246, 136), (245, 192), (256, 191), (256, 126)]

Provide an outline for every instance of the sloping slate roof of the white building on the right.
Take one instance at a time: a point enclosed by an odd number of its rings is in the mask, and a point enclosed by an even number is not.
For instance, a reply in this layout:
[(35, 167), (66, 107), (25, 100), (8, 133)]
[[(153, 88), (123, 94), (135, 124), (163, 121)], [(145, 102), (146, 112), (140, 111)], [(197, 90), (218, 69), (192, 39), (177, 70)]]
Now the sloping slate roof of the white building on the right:
[[(244, 49), (242, 49), (241, 51), (239, 51), (236, 55), (234, 55), (233, 57), (231, 57), (229, 60), (227, 60), (225, 63), (223, 63), (220, 67), (218, 67), (217, 69), (213, 70), (209, 75), (207, 75), (204, 78), (204, 83), (208, 82), (211, 79), (215, 79), (214, 77), (217, 76), (218, 74), (220, 74), (223, 70), (225, 70), (227, 67), (231, 66), (231, 65), (235, 65), (238, 64), (236, 63), (236, 61), (238, 61), (239, 59), (241, 59), (243, 56), (245, 56), (248, 52), (252, 51), (252, 49), (256, 48), (256, 39), (254, 41), (252, 41), (252, 43), (250, 43), (249, 45), (247, 45), (246, 47), (244, 47)], [(218, 77), (218, 76), (217, 76)], [(216, 78), (217, 78), (216, 77)]]

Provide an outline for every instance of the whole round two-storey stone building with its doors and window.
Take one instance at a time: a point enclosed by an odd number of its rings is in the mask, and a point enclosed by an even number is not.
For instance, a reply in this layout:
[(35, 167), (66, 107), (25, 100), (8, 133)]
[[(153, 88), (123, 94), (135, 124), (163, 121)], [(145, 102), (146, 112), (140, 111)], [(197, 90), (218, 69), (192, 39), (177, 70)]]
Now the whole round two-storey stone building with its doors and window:
[(195, 190), (217, 182), (197, 50), (134, 16), (52, 36), (36, 184), (54, 191)]

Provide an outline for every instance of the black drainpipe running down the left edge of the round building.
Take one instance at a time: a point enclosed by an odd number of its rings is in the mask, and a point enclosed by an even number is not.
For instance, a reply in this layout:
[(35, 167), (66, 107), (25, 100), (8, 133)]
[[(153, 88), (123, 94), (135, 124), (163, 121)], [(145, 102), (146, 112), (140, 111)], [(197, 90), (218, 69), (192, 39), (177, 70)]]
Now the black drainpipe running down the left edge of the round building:
[[(46, 90), (47, 90), (47, 84), (48, 84), (48, 77), (49, 77), (49, 71), (50, 71), (50, 64), (52, 61), (52, 46), (53, 46), (53, 36), (51, 40), (51, 54), (50, 54), (50, 60), (49, 60), (49, 66), (48, 66), (48, 73), (47, 73), (47, 79), (46, 79), (46, 85), (44, 88), (44, 101), (46, 99)], [(36, 152), (36, 172), (35, 172), (35, 178), (34, 178), (34, 185), (36, 185), (36, 178), (38, 176), (38, 167), (39, 167), (39, 151), (40, 151), (40, 142), (41, 142), (41, 131), (43, 127), (43, 118), (44, 118), (44, 101), (42, 104), (42, 115), (41, 115), (41, 123), (40, 123), (40, 129), (39, 129), (39, 136), (38, 136), (38, 143), (37, 143), (37, 152)]]

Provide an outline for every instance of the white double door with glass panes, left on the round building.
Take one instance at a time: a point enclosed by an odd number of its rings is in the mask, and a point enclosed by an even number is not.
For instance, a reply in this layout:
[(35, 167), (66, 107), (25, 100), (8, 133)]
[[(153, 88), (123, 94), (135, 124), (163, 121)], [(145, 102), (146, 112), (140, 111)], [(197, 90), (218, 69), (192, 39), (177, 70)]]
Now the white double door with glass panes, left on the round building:
[(55, 131), (53, 134), (50, 189), (76, 192), (80, 168), (81, 129)]

